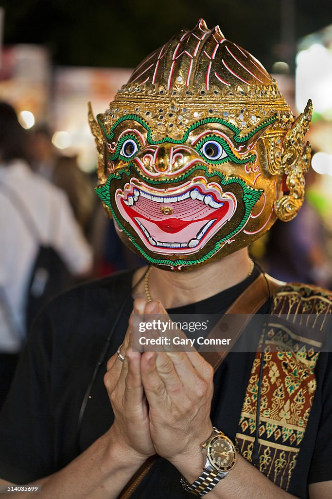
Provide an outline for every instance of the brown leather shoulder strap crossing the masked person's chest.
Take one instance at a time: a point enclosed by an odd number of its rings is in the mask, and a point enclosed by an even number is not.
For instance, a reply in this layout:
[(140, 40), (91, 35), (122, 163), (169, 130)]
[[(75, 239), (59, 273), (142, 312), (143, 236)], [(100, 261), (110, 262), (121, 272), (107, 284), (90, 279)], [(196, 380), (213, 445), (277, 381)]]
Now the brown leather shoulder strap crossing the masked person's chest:
[[(225, 311), (221, 319), (213, 327), (207, 337), (219, 338), (222, 324), (222, 327), (228, 327), (227, 336), (229, 336), (232, 340), (230, 341), (231, 344), (229, 345), (229, 348), (222, 352), (200, 352), (205, 360), (213, 366), (215, 372), (230, 348), (233, 347), (238, 338), (241, 336), (245, 326), (250, 320), (250, 316), (256, 313), (260, 307), (264, 305), (268, 298), (278, 292), (284, 284), (284, 282), (278, 281), (265, 273), (261, 273)], [(157, 458), (158, 455), (155, 454), (145, 461), (145, 463), (133, 475), (117, 499), (129, 499), (131, 497), (145, 475), (152, 468), (153, 463)]]

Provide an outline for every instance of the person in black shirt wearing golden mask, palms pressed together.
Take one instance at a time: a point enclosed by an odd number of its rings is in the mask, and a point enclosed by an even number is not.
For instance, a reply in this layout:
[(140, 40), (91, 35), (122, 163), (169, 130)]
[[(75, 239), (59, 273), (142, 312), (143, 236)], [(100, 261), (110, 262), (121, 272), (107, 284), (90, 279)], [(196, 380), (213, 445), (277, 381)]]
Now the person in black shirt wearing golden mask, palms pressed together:
[[(40, 316), (1, 415), (3, 486), (41, 484), (52, 499), (331, 497), (320, 350), (332, 296), (274, 281), (247, 252), (301, 207), (311, 113), (295, 117), (264, 67), (203, 20), (139, 64), (105, 114), (90, 110), (97, 194), (148, 267)], [(276, 320), (255, 331), (256, 352), (134, 351), (135, 315), (166, 310)], [(309, 339), (280, 314), (321, 327)]]

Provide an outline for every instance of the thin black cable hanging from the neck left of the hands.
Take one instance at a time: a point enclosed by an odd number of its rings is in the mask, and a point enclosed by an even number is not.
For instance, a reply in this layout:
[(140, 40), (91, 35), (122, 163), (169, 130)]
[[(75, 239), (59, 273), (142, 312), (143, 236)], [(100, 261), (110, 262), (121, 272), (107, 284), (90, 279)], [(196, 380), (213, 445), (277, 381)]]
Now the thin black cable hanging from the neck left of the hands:
[(106, 338), (106, 340), (105, 340), (105, 342), (103, 344), (103, 347), (102, 347), (102, 349), (100, 351), (100, 354), (99, 354), (99, 357), (98, 357), (98, 361), (97, 361), (97, 364), (95, 366), (93, 375), (92, 375), (91, 380), (90, 380), (90, 382), (88, 384), (87, 391), (85, 392), (85, 395), (83, 397), (83, 401), (82, 401), (82, 405), (81, 405), (81, 408), (80, 408), (80, 413), (79, 413), (79, 417), (78, 417), (78, 421), (77, 421), (76, 447), (77, 447), (77, 452), (78, 453), (80, 452), (80, 434), (81, 434), (81, 429), (82, 429), (83, 418), (84, 418), (84, 414), (85, 414), (85, 411), (86, 411), (86, 408), (87, 408), (87, 405), (88, 405), (89, 397), (90, 397), (91, 392), (92, 392), (93, 385), (94, 385), (94, 383), (96, 381), (96, 377), (97, 377), (98, 371), (99, 371), (101, 365), (103, 364), (103, 362), (105, 361), (107, 352), (109, 351), (109, 347), (110, 347), (110, 343), (111, 343), (111, 337), (112, 337), (113, 332), (114, 332), (114, 330), (115, 330), (115, 328), (116, 328), (116, 326), (118, 324), (118, 321), (120, 320), (120, 317), (122, 315), (123, 309), (126, 306), (128, 299), (131, 298), (133, 290), (144, 279), (145, 273), (146, 272), (144, 272), (144, 274), (142, 275), (142, 277), (131, 288), (130, 293), (128, 293), (126, 295), (126, 297), (124, 298), (124, 300), (123, 300), (123, 302), (122, 302), (122, 304), (121, 304), (121, 306), (119, 308), (119, 311), (117, 312), (117, 315), (115, 317), (114, 323), (113, 323), (113, 325), (111, 327), (111, 331), (110, 331), (108, 337)]

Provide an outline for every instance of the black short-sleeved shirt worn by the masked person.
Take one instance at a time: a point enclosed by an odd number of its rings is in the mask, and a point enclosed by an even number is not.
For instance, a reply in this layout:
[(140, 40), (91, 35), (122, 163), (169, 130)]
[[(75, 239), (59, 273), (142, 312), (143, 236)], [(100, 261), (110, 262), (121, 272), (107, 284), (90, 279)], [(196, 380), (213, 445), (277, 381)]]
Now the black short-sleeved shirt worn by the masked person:
[[(169, 312), (223, 313), (257, 274), (255, 269), (236, 286)], [(0, 415), (0, 478), (20, 484), (52, 474), (110, 428), (113, 413), (103, 377), (127, 328), (131, 278), (132, 272), (124, 272), (80, 286), (39, 316)], [(103, 350), (105, 360), (78, 429), (82, 402)], [(254, 355), (230, 351), (215, 375), (212, 423), (232, 440)], [(288, 491), (300, 498), (308, 498), (309, 483), (332, 480), (331, 360), (330, 353), (320, 354), (318, 387)], [(179, 472), (159, 458), (132, 498), (188, 498), (179, 479)]]

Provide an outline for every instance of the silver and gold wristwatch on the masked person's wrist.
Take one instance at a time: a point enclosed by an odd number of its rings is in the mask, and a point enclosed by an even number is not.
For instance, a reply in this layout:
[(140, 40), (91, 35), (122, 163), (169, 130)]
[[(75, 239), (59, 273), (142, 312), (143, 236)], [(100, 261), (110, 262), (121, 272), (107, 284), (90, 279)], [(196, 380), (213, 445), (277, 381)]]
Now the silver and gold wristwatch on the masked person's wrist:
[(232, 441), (215, 427), (208, 440), (203, 442), (202, 451), (205, 463), (202, 475), (191, 485), (181, 477), (184, 490), (196, 496), (204, 496), (210, 492), (236, 463), (236, 451)]

